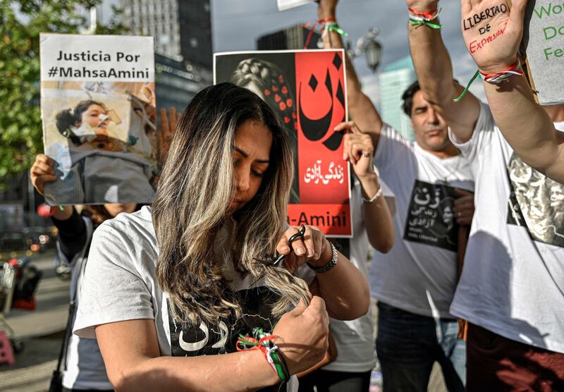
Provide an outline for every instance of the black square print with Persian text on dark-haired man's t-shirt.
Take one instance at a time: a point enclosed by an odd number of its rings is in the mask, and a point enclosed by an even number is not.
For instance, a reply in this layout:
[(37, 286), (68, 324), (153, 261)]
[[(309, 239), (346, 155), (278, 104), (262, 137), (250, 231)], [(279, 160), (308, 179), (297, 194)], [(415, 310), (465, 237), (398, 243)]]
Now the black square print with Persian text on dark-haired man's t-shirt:
[(415, 180), (403, 239), (456, 251), (458, 224), (453, 216), (454, 188)]

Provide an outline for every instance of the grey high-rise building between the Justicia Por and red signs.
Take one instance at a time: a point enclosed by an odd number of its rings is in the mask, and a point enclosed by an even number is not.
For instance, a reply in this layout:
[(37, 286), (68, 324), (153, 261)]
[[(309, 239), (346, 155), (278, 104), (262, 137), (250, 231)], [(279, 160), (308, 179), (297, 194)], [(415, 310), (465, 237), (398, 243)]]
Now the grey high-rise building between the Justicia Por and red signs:
[(213, 82), (209, 0), (121, 0), (120, 7), (131, 34), (154, 37), (157, 109), (183, 111)]

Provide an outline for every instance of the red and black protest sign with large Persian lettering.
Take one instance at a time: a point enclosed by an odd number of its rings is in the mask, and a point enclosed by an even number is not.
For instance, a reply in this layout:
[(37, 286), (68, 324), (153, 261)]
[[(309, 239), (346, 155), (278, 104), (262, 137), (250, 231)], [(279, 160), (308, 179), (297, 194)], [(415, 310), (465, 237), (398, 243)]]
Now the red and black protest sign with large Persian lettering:
[(262, 97), (290, 134), (294, 183), (288, 223), (350, 237), (350, 170), (343, 161), (347, 118), (343, 49), (214, 54), (214, 83), (233, 82)]

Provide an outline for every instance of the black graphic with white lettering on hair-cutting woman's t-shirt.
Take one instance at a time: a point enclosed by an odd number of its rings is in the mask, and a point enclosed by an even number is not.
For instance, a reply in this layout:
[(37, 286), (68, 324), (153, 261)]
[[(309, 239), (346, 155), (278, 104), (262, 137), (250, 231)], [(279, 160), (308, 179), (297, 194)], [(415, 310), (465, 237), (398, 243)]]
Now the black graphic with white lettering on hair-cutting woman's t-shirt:
[[(238, 301), (243, 309), (243, 317), (233, 314), (227, 319), (218, 319), (214, 325), (201, 322), (195, 326), (174, 319), (168, 306), (168, 326), (171, 331), (171, 351), (173, 357), (197, 357), (234, 353), (239, 335), (252, 336), (254, 328), (271, 332), (277, 319), (272, 316), (271, 308), (278, 300), (278, 295), (266, 287), (239, 290)], [(266, 359), (265, 359), (266, 361)], [(235, 382), (235, 381), (233, 381)], [(286, 385), (273, 386), (261, 391), (286, 391)]]

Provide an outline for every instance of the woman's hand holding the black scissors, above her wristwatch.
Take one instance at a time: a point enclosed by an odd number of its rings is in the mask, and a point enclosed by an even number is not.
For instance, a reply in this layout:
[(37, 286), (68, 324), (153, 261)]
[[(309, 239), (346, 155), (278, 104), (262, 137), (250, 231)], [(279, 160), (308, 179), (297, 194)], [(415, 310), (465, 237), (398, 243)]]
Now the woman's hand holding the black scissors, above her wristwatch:
[(284, 266), (290, 271), (294, 271), (306, 262), (314, 267), (323, 267), (327, 264), (333, 256), (333, 251), (324, 233), (315, 226), (305, 226), (304, 239), (293, 240), (292, 248), (294, 251), (290, 254), (288, 240), (299, 231), (298, 226), (290, 226), (278, 240), (276, 251), (280, 255), (288, 255), (283, 261)]

